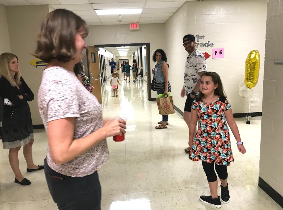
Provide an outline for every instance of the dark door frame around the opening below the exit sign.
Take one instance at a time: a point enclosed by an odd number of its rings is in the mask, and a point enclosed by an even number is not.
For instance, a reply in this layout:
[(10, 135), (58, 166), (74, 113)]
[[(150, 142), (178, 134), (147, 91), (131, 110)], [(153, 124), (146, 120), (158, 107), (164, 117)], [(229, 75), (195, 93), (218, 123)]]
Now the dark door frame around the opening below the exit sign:
[[(148, 73), (151, 72), (150, 70), (150, 43), (131, 43), (131, 44), (104, 44), (104, 45), (94, 45), (98, 48), (105, 48), (105, 47), (117, 47), (117, 46), (146, 46), (146, 65), (147, 65), (147, 69), (148, 69)], [(147, 74), (147, 78), (148, 78), (148, 82), (146, 80), (144, 80), (145, 82), (147, 82), (147, 95), (148, 95), (148, 100), (149, 101), (155, 101), (156, 98), (152, 98), (151, 97), (151, 74)]]

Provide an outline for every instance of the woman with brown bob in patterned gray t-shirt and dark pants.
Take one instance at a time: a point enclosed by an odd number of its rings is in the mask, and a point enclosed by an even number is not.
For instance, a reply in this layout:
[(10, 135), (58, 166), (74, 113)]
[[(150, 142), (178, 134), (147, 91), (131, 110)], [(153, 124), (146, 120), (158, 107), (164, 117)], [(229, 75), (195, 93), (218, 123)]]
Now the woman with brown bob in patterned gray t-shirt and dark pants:
[(56, 9), (43, 21), (34, 53), (48, 62), (38, 108), (48, 134), (45, 177), (58, 209), (100, 209), (97, 170), (109, 159), (106, 137), (126, 129), (124, 120), (103, 121), (96, 97), (73, 72), (83, 58), (87, 34), (84, 20)]

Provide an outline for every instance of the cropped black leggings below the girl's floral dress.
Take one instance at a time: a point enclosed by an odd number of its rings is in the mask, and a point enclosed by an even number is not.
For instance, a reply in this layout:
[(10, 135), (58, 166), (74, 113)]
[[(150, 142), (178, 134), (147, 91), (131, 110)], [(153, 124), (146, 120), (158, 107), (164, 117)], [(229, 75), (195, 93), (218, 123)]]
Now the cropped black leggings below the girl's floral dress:
[(218, 174), (218, 177), (220, 179), (227, 179), (228, 173), (227, 173), (227, 166), (226, 165), (217, 165), (212, 163), (207, 163), (202, 161), (202, 168), (205, 171), (207, 181), (209, 182), (215, 182), (217, 180), (217, 176), (214, 171), (214, 165), (215, 165), (215, 170)]

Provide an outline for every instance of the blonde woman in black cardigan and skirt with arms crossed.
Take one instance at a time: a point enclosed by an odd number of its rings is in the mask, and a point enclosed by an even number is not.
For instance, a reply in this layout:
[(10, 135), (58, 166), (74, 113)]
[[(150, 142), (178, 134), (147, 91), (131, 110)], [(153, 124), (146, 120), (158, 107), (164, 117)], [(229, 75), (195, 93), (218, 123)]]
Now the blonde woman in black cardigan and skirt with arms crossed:
[(19, 169), (18, 153), (21, 147), (23, 146), (24, 158), (27, 162), (27, 172), (41, 170), (43, 165), (35, 165), (32, 159), (34, 135), (27, 102), (32, 101), (34, 95), (19, 72), (18, 62), (18, 57), (12, 53), (0, 55), (0, 96), (6, 102), (2, 122), (2, 141), (4, 149), (9, 149), (9, 162), (15, 174), (14, 182), (30, 185), (30, 180), (24, 178)]

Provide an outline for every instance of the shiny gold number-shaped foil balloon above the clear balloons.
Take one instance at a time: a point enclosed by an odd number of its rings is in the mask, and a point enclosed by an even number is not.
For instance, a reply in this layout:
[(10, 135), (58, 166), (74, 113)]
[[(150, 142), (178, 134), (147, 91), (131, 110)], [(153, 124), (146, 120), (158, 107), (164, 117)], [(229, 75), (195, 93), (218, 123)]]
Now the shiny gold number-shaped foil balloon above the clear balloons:
[(260, 55), (259, 51), (253, 50), (248, 53), (246, 59), (246, 71), (245, 71), (245, 84), (247, 88), (252, 89), (259, 81), (259, 65)]

